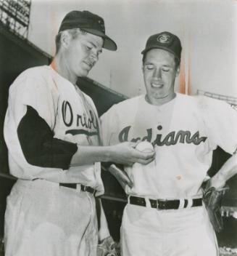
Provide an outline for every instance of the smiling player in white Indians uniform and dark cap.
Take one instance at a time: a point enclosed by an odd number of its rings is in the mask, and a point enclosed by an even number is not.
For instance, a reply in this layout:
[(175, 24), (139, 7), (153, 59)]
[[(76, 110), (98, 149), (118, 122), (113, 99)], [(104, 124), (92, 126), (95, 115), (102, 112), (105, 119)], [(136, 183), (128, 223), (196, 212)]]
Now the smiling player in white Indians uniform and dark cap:
[(146, 95), (118, 103), (101, 117), (104, 145), (140, 140), (156, 152), (150, 164), (125, 167), (133, 187), (125, 185), (122, 255), (216, 256), (201, 184), (217, 145), (233, 156), (212, 177), (212, 186), (223, 187), (237, 172), (237, 113), (219, 100), (174, 92), (177, 36), (150, 36), (142, 55)]

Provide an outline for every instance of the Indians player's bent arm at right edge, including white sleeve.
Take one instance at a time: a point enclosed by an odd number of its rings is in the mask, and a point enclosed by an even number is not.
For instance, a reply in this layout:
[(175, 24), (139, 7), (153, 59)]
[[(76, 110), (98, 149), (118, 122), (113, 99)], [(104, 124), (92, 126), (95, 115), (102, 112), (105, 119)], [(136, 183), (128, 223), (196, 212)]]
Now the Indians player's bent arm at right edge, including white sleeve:
[(223, 188), (226, 181), (237, 173), (237, 113), (222, 100), (207, 97), (200, 99), (200, 103), (203, 104), (201, 111), (207, 128), (209, 149), (214, 150), (220, 146), (225, 152), (232, 155), (210, 180), (211, 186)]

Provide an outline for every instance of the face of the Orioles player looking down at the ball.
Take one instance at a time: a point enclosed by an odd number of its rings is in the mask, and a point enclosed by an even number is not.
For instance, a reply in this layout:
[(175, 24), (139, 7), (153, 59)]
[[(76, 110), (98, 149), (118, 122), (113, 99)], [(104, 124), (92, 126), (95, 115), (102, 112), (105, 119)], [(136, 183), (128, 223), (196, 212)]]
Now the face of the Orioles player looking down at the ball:
[(65, 33), (62, 36), (63, 58), (69, 80), (76, 80), (80, 76), (87, 76), (93, 65), (99, 60), (102, 52), (103, 39), (91, 33), (80, 31), (77, 36)]

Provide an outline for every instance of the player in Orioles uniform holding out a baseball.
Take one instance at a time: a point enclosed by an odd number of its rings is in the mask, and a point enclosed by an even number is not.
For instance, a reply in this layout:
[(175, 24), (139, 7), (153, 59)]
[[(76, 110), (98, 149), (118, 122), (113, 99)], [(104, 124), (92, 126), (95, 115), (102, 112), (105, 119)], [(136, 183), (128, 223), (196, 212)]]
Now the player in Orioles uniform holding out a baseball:
[(109, 236), (103, 209), (97, 231), (95, 197), (104, 193), (99, 162), (146, 164), (154, 156), (137, 151), (136, 143), (100, 146), (96, 108), (75, 85), (102, 48), (117, 49), (104, 20), (69, 12), (56, 44), (51, 65), (24, 71), (9, 89), (4, 137), (18, 180), (7, 198), (6, 256), (95, 256), (98, 239)]

